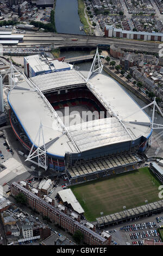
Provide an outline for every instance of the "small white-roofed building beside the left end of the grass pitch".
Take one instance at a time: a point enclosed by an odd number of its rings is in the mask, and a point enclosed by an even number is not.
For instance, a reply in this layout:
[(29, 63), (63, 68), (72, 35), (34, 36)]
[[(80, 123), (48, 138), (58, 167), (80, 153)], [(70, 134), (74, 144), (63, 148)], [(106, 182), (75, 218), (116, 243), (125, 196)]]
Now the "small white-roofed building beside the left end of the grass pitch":
[(78, 214), (83, 214), (84, 210), (70, 188), (61, 190), (58, 194), (64, 203), (67, 202), (67, 204), (71, 204), (74, 211), (78, 212)]

